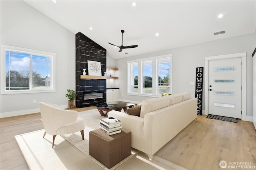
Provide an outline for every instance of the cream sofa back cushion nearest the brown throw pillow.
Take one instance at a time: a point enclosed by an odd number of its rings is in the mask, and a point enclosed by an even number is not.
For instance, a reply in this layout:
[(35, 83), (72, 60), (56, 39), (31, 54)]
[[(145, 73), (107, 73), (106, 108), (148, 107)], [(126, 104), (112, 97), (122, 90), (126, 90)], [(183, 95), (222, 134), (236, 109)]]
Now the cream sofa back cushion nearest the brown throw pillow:
[(146, 113), (149, 113), (151, 111), (155, 111), (167, 106), (170, 106), (169, 96), (143, 100), (142, 106), (140, 109), (140, 117), (144, 117)]

